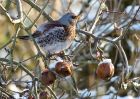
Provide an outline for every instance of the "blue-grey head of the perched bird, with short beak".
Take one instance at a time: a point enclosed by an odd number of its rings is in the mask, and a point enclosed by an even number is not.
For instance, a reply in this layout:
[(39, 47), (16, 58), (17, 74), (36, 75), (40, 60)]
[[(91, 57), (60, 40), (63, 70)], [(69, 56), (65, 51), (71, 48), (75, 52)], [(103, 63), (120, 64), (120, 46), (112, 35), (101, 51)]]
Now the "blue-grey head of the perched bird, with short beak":
[(74, 13), (66, 13), (64, 16), (62, 16), (59, 19), (59, 22), (63, 25), (76, 25), (78, 19), (80, 18), (80, 15), (75, 15)]

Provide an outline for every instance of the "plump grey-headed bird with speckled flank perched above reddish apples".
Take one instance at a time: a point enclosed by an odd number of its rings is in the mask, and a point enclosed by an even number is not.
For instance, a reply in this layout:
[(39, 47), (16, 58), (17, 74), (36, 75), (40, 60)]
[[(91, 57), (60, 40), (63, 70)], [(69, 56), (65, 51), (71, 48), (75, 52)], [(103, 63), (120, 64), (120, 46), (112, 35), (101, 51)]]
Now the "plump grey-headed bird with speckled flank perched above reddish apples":
[[(44, 52), (60, 53), (68, 49), (75, 39), (79, 17), (80, 15), (68, 12), (58, 20), (41, 24), (31, 36)], [(18, 38), (29, 40), (30, 36), (18, 36)]]

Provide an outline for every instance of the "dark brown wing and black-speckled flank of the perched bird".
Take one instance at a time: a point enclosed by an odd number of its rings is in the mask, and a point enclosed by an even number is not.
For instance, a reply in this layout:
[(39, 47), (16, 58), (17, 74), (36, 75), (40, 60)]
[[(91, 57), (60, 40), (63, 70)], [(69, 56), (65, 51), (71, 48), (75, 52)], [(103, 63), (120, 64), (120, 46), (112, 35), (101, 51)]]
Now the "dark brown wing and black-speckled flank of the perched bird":
[(61, 24), (47, 24), (42, 34), (34, 33), (36, 41), (40, 45), (53, 44), (66, 40), (65, 26)]

